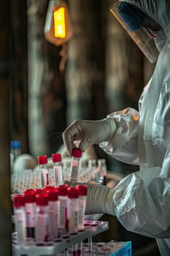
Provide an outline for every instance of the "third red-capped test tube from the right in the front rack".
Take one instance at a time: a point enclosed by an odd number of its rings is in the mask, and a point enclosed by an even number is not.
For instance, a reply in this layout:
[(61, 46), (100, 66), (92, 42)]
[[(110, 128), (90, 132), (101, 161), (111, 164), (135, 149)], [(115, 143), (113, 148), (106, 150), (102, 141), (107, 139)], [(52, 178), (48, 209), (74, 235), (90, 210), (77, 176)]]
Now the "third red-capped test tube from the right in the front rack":
[(58, 227), (61, 229), (67, 229), (67, 208), (68, 208), (68, 197), (67, 197), (68, 185), (60, 185), (58, 187), (58, 201), (59, 201), (59, 223)]

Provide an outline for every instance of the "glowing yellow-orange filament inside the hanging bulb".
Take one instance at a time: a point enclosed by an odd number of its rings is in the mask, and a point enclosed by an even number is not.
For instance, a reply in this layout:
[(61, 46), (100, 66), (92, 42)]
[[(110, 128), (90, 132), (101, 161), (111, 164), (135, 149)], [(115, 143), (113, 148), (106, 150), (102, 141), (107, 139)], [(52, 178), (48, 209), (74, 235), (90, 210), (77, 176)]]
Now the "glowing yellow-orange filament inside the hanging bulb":
[(53, 12), (55, 37), (66, 37), (66, 23), (64, 7), (59, 7)]

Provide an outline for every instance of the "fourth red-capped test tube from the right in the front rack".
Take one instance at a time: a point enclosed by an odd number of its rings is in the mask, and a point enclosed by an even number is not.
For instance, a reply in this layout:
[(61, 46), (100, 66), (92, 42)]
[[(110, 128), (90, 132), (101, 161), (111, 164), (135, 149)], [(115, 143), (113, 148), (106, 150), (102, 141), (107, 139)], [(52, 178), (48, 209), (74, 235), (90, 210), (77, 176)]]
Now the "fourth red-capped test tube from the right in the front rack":
[(58, 238), (58, 188), (45, 189), (48, 193), (48, 217), (50, 238)]

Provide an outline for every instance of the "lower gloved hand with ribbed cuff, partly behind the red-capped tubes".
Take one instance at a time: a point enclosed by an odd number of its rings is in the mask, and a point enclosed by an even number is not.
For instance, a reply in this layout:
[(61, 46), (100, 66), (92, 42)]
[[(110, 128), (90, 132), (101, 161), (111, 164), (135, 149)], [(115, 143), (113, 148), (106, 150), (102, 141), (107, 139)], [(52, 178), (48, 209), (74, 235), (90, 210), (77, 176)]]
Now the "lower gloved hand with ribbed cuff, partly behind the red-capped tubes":
[(85, 214), (110, 214), (115, 215), (113, 195), (114, 188), (103, 185), (65, 181), (69, 187), (83, 184), (88, 186)]

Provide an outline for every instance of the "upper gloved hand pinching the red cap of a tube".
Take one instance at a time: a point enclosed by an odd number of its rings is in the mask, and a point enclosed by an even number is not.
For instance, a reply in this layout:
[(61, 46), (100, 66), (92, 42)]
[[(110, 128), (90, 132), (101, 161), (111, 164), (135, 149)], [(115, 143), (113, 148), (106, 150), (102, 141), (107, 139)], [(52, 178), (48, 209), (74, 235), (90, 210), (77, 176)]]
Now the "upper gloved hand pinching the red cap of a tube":
[(112, 139), (115, 135), (116, 124), (112, 118), (98, 121), (75, 120), (63, 132), (63, 143), (69, 156), (72, 156), (74, 141), (80, 141), (79, 148), (84, 152), (88, 146), (99, 144)]

